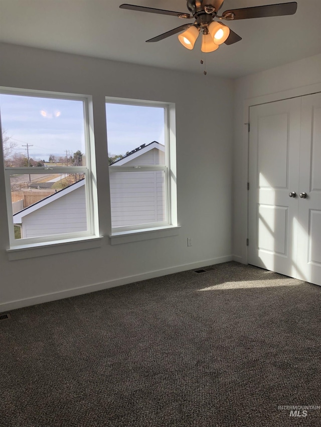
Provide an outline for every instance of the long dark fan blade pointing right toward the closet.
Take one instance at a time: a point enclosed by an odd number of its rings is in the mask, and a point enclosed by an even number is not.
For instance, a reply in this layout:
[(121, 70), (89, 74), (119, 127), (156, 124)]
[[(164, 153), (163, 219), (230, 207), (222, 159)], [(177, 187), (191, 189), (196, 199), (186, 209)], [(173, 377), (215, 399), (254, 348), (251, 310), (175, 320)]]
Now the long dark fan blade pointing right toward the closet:
[[(223, 12), (223, 19), (241, 20), (250, 18), (280, 17), (283, 15), (293, 15), (296, 12), (297, 3), (280, 3), (278, 5), (255, 6), (254, 8), (234, 9)], [(231, 17), (234, 15), (234, 18)]]

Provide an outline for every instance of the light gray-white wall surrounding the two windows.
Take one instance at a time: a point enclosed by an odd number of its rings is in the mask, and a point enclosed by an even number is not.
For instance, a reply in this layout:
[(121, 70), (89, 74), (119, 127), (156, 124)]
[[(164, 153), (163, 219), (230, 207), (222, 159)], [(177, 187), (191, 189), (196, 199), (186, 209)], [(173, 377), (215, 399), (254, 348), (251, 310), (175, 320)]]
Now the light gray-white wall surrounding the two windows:
[[(104, 236), (100, 248), (9, 261), (2, 202), (0, 311), (231, 259), (232, 81), (6, 44), (0, 54), (2, 86), (93, 96)], [(176, 103), (179, 235), (110, 245), (105, 96)]]

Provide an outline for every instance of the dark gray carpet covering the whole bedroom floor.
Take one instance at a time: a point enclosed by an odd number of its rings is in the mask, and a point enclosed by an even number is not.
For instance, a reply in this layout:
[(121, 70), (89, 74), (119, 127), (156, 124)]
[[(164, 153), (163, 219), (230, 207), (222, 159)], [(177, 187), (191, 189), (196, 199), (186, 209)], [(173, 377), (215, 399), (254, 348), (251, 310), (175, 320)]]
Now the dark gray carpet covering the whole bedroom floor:
[(214, 268), (13, 310), (0, 425), (320, 426), (321, 287)]

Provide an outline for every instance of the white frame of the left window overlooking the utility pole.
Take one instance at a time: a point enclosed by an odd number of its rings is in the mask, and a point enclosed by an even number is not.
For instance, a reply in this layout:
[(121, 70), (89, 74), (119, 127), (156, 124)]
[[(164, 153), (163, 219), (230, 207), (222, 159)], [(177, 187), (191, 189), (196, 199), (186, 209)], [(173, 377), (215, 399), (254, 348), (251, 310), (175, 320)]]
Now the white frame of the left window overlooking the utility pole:
[[(20, 90), (20, 89), (7, 89), (0, 88), (1, 94), (6, 95), (18, 95), (18, 96), (29, 96), (34, 98), (51, 98), (60, 100), (74, 100), (82, 101), (83, 103), (83, 114), (84, 114), (84, 139), (85, 139), (85, 156), (86, 166), (65, 166), (65, 167), (23, 167), (23, 168), (12, 168), (5, 167), (5, 186), (6, 186), (6, 199), (7, 199), (7, 211), (8, 211), (8, 225), (9, 225), (9, 241), (10, 250), (24, 250), (28, 248), (44, 247), (44, 245), (52, 245), (55, 243), (74, 243), (79, 241), (86, 241), (90, 238), (98, 238), (98, 213), (97, 213), (97, 189), (93, 182), (96, 182), (96, 170), (95, 170), (95, 155), (94, 155), (94, 143), (93, 134), (90, 132), (92, 123), (89, 120), (89, 104), (92, 104), (90, 96), (75, 95), (75, 94), (63, 94), (56, 92), (44, 92), (44, 91), (32, 91), (32, 90)], [(60, 233), (52, 234), (47, 236), (29, 237), (22, 239), (15, 239), (14, 232), (14, 220), (13, 220), (13, 209), (12, 209), (12, 197), (11, 197), (11, 175), (35, 175), (35, 174), (52, 174), (53, 169), (55, 173), (83, 173), (85, 174), (85, 189), (86, 189), (86, 213), (87, 213), (87, 230), (80, 232)], [(74, 247), (74, 246), (73, 246)], [(76, 249), (77, 250), (77, 249)], [(66, 248), (65, 251), (69, 251)], [(64, 250), (62, 250), (64, 252)], [(35, 252), (36, 253), (36, 252)], [(44, 255), (46, 252), (44, 252)], [(12, 259), (28, 258), (31, 255), (22, 254), (17, 255)], [(35, 255), (36, 256), (36, 255)], [(37, 252), (39, 256), (39, 252)]]

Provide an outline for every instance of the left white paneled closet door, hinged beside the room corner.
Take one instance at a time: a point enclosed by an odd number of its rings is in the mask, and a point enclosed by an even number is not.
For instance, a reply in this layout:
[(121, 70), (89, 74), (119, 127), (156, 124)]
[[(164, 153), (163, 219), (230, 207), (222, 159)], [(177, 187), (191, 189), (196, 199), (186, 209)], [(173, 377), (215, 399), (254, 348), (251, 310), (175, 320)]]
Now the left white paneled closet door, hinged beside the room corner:
[(296, 277), (301, 100), (250, 107), (250, 264)]

